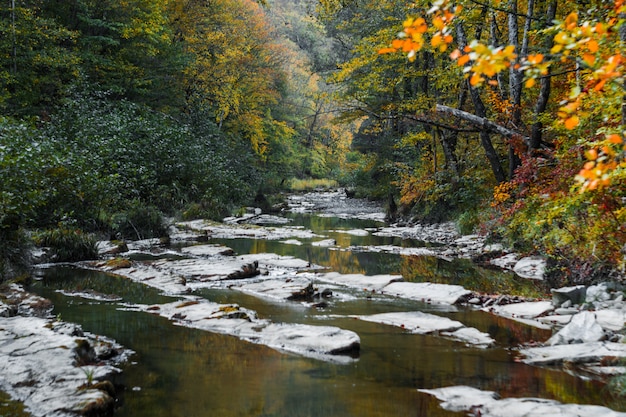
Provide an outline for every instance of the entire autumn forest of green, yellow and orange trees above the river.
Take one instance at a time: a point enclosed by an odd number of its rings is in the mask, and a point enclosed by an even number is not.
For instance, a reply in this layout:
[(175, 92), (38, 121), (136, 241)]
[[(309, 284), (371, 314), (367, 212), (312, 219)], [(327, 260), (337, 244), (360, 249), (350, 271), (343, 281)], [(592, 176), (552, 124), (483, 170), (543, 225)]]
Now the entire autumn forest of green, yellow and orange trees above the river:
[[(626, 266), (623, 0), (5, 0), (0, 281), (329, 183)], [(302, 181), (305, 180), (305, 181)]]

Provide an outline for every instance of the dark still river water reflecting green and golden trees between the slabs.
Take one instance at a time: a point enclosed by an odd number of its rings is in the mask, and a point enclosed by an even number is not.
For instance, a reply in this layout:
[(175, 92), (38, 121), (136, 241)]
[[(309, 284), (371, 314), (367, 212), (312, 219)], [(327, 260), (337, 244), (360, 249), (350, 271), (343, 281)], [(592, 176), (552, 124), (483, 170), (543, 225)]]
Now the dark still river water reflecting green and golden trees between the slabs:
[[(372, 221), (310, 215), (293, 218), (295, 224), (335, 239), (341, 248), (424, 245), (338, 232), (380, 226)], [(342, 273), (402, 274), (407, 280), (460, 284), (486, 292), (541, 292), (533, 282), (480, 269), (465, 260), (330, 250), (312, 246), (306, 240), (300, 246), (253, 239), (212, 242), (227, 245), (238, 254), (272, 252), (296, 256)], [(68, 297), (58, 292), (61, 289), (90, 289), (118, 295), (121, 300)], [(492, 390), (502, 397), (540, 397), (611, 406), (606, 403), (608, 396), (599, 381), (516, 360), (516, 346), (545, 340), (549, 333), (469, 309), (442, 308), (385, 296), (367, 298), (356, 290), (354, 297), (331, 302), (324, 309), (262, 300), (227, 289), (200, 292), (211, 301), (238, 303), (274, 322), (334, 325), (357, 332), (361, 338), (358, 360), (336, 364), (128, 311), (125, 303), (153, 304), (173, 299), (153, 288), (100, 272), (54, 267), (45, 270), (43, 279), (35, 281), (30, 290), (51, 299), (54, 314), (62, 320), (80, 323), (85, 330), (112, 337), (136, 352), (116, 381), (121, 392), (115, 413), (119, 417), (458, 416), (441, 409), (431, 396), (418, 392), (420, 388), (450, 385)], [(436, 336), (409, 334), (399, 328), (345, 317), (414, 310), (447, 316), (488, 332), (496, 340), (496, 347), (467, 347)]]

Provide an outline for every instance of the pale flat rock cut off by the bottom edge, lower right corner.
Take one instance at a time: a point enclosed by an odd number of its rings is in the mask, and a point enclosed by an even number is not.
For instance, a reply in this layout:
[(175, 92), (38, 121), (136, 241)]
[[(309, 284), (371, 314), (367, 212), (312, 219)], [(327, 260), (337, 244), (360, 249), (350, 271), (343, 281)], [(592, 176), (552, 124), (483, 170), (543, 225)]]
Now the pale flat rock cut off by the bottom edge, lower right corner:
[(441, 401), (441, 407), (454, 412), (471, 412), (489, 417), (625, 417), (610, 408), (597, 405), (563, 404), (542, 398), (503, 398), (495, 392), (482, 391), (468, 386), (437, 389), (420, 389)]

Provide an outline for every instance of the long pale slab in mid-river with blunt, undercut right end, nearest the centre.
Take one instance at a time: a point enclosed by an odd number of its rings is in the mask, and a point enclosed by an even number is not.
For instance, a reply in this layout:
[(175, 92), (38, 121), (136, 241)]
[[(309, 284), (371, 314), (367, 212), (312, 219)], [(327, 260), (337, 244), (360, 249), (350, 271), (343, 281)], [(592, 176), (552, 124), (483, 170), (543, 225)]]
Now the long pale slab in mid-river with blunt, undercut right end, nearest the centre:
[(181, 326), (236, 336), (280, 351), (331, 362), (354, 361), (352, 356), (358, 353), (361, 343), (359, 336), (350, 330), (334, 326), (272, 323), (237, 305), (217, 304), (200, 298), (137, 307)]

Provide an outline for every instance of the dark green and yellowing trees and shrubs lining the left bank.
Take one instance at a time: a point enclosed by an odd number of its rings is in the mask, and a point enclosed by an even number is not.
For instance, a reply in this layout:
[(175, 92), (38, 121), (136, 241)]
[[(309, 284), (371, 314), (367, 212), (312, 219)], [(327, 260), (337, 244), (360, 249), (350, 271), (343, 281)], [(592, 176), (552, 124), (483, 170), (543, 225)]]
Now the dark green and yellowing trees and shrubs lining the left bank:
[(23, 227), (116, 233), (141, 207), (219, 218), (328, 174), (336, 129), (311, 82), (327, 38), (294, 46), (273, 22), (306, 8), (271, 20), (263, 4), (2, 2), (0, 258)]

